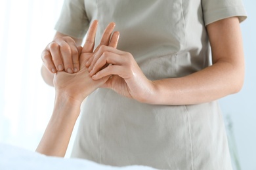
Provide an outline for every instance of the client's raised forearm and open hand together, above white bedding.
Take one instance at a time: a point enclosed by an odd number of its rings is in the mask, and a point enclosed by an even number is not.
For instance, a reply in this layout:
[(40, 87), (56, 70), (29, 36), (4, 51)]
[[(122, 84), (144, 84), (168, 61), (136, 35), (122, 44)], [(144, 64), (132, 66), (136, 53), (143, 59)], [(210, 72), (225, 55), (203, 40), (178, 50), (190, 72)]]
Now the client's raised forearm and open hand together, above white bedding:
[[(93, 80), (89, 76), (87, 67), (85, 67), (85, 63), (93, 57), (100, 47), (98, 46), (93, 51), (97, 25), (97, 21), (91, 24), (83, 48), (77, 48), (79, 71), (74, 74), (57, 71), (54, 75), (53, 84), (56, 93), (53, 114), (36, 149), (41, 154), (64, 157), (75, 121), (79, 116), (81, 103), (87, 95), (102, 86), (109, 78), (109, 76), (105, 76), (104, 78)], [(116, 48), (119, 33), (114, 32), (112, 34), (113, 29), (114, 23), (110, 23), (102, 35), (101, 43)], [(110, 39), (111, 35), (112, 38)]]

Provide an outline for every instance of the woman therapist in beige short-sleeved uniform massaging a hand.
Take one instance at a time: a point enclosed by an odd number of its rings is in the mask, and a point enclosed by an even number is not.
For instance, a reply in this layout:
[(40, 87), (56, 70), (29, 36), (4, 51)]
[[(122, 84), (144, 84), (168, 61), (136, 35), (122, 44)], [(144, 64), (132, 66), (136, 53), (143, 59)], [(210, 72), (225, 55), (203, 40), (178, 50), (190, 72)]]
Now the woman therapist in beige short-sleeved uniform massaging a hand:
[(49, 84), (57, 70), (79, 70), (77, 45), (91, 20), (100, 22), (98, 35), (109, 22), (120, 32), (118, 50), (101, 46), (86, 63), (94, 80), (113, 76), (83, 106), (72, 156), (232, 169), (217, 99), (242, 88), (245, 17), (240, 0), (65, 1), (56, 39), (42, 56)]

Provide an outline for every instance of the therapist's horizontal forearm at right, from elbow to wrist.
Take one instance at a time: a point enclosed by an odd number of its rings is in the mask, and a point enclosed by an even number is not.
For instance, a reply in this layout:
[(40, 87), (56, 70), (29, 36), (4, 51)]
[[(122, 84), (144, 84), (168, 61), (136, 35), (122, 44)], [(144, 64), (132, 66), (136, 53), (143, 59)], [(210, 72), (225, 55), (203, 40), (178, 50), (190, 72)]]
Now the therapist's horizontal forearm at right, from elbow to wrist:
[(239, 65), (220, 61), (192, 75), (156, 80), (146, 103), (193, 105), (239, 92), (244, 82), (244, 65)]

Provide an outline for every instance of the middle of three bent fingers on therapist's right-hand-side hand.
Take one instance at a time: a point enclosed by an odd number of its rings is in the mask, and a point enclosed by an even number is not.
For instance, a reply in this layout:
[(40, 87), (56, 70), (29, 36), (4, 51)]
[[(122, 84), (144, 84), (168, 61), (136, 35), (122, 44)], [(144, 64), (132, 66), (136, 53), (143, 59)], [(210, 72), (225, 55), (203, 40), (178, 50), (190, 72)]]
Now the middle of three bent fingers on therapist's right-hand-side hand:
[(89, 69), (90, 76), (95, 75), (104, 65), (106, 64), (112, 64), (112, 65), (122, 65), (123, 62), (125, 62), (125, 58), (123, 56), (120, 56), (119, 54), (112, 53), (112, 52), (104, 52), (102, 56), (96, 61), (94, 67)]

